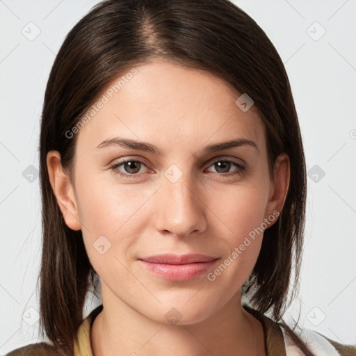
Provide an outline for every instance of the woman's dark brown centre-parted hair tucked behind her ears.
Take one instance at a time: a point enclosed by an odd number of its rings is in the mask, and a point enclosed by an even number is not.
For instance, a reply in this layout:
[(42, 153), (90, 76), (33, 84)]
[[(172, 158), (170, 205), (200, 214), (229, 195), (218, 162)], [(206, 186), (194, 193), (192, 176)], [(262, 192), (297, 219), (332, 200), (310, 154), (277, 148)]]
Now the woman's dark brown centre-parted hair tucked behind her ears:
[[(51, 68), (40, 131), (42, 264), (40, 330), (54, 345), (73, 350), (83, 307), (97, 273), (81, 231), (67, 227), (52, 191), (47, 153), (60, 153), (72, 177), (79, 123), (108, 83), (155, 58), (214, 74), (254, 101), (266, 128), (268, 167), (289, 156), (289, 191), (277, 222), (264, 231), (247, 293), (260, 313), (280, 321), (298, 291), (307, 193), (298, 115), (282, 60), (266, 33), (228, 0), (106, 0), (67, 34)], [(291, 274), (294, 278), (291, 280)], [(293, 282), (291, 296), (289, 284)], [(305, 355), (307, 346), (286, 330)]]

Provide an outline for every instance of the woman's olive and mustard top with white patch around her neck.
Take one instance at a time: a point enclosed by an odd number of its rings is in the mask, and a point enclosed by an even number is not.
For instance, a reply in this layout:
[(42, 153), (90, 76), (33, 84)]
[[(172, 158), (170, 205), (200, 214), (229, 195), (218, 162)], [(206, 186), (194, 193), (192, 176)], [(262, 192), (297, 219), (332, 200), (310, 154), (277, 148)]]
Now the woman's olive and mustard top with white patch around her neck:
[[(246, 311), (261, 321), (264, 328), (264, 342), (267, 356), (294, 356), (304, 355), (286, 336), (284, 327), (267, 316), (244, 305)], [(92, 310), (83, 320), (78, 330), (78, 340), (74, 342), (74, 356), (94, 356), (90, 345), (90, 328), (96, 316), (102, 311), (103, 306)], [(322, 334), (308, 330), (308, 346), (316, 356), (356, 356), (356, 346), (343, 345), (330, 340)], [(305, 340), (304, 340), (305, 341)], [(11, 351), (6, 356), (63, 356), (49, 343), (32, 343), (22, 348)], [(69, 355), (65, 355), (69, 356)], [(218, 355), (217, 355), (218, 356)]]

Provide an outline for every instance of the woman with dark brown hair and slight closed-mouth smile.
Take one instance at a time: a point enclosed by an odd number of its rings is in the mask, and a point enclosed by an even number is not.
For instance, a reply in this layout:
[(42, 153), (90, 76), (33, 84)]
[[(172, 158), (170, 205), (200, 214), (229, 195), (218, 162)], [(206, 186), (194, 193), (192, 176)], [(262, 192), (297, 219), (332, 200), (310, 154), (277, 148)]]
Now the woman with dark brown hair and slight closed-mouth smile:
[(8, 355), (356, 355), (282, 323), (305, 157), (280, 56), (229, 1), (83, 17), (47, 84), (40, 178), (51, 343)]

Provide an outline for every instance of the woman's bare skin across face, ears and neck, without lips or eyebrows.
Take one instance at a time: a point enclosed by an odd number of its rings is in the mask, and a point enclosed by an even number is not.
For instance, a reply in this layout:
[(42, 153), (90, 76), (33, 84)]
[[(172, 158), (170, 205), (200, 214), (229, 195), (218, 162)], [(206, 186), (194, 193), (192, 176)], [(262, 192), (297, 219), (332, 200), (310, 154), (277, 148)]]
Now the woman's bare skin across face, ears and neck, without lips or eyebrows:
[[(261, 118), (254, 106), (241, 111), (235, 104), (240, 95), (213, 74), (158, 59), (136, 69), (76, 133), (73, 181), (61, 169), (58, 152), (47, 155), (65, 223), (82, 230), (102, 281), (104, 309), (90, 332), (93, 353), (266, 355), (261, 323), (241, 307), (241, 287), (257, 261), (262, 235), (214, 281), (207, 273), (187, 282), (163, 280), (138, 258), (171, 252), (227, 259), (249, 232), (282, 210), (288, 156), (275, 161), (273, 181)], [(163, 154), (97, 147), (117, 136), (151, 143)], [(203, 152), (206, 145), (234, 138), (248, 138), (258, 149)], [(116, 168), (137, 179), (115, 174), (111, 166), (123, 159), (145, 162)], [(219, 167), (226, 160), (246, 169)], [(164, 175), (171, 165), (182, 174), (175, 183)], [(93, 246), (99, 236), (111, 243), (104, 254)], [(175, 325), (165, 318), (173, 307), (181, 314)]]

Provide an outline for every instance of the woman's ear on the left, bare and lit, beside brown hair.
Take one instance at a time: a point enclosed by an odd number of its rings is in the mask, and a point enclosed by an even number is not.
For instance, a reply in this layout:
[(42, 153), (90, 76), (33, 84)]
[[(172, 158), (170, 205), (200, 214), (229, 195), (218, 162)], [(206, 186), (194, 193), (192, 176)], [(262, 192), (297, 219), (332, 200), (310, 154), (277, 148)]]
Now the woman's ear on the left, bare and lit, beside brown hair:
[(56, 195), (60, 211), (67, 227), (72, 230), (80, 230), (79, 213), (74, 196), (74, 188), (69, 175), (62, 169), (60, 154), (58, 151), (47, 153), (47, 169), (51, 187)]

